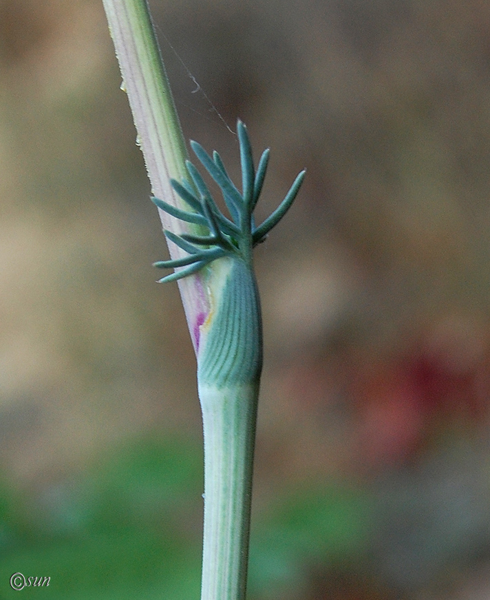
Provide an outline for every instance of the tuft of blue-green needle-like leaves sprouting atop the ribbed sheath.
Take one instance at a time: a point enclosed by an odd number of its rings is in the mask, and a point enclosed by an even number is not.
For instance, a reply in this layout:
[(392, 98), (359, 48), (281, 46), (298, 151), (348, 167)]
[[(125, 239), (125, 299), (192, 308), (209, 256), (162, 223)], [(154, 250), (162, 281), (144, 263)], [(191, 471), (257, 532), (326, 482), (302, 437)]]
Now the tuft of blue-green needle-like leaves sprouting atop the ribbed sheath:
[(216, 151), (213, 152), (213, 158), (211, 158), (198, 142), (191, 142), (191, 148), (202, 166), (220, 187), (231, 219), (228, 219), (217, 207), (204, 179), (190, 161), (186, 162), (190, 180), (180, 183), (171, 179), (171, 185), (191, 210), (182, 210), (159, 198), (152, 198), (158, 208), (171, 216), (187, 223), (202, 225), (209, 230), (209, 234), (204, 236), (177, 235), (164, 230), (167, 238), (187, 252), (189, 256), (175, 260), (160, 260), (158, 263), (154, 263), (154, 266), (160, 269), (182, 267), (160, 279), (160, 283), (182, 279), (223, 256), (239, 257), (249, 263), (253, 247), (264, 241), (268, 232), (279, 223), (292, 205), (303, 181), (304, 170), (297, 175), (286, 197), (276, 210), (261, 225), (255, 227), (253, 210), (264, 185), (269, 151), (267, 149), (262, 153), (257, 170), (255, 170), (250, 139), (246, 126), (240, 120), (237, 122), (237, 134), (242, 166), (242, 192), (239, 192), (231, 181), (222, 159)]

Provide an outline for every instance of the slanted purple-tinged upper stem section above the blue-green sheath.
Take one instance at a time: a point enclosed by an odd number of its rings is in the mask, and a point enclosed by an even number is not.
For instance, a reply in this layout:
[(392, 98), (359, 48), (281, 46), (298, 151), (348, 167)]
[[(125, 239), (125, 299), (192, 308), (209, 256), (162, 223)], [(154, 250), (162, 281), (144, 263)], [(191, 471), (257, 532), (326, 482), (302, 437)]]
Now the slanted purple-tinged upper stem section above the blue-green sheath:
[[(103, 5), (122, 74), (122, 89), (127, 92), (152, 193), (188, 210), (170, 184), (171, 178), (181, 181), (186, 176), (187, 152), (147, 1), (103, 0)], [(162, 210), (159, 212), (165, 229), (178, 234), (193, 232), (191, 226), (171, 219)], [(169, 243), (169, 252), (172, 258), (185, 256), (173, 243)], [(200, 315), (209, 312), (209, 301), (199, 275), (182, 279), (178, 285), (196, 351), (196, 323)]]

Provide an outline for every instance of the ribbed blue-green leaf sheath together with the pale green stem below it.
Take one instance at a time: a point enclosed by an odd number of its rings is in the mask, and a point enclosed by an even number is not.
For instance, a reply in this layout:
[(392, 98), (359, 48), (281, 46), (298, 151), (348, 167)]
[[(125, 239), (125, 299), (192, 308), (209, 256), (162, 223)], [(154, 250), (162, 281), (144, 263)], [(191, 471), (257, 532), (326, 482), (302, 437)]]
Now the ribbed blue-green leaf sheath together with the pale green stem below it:
[(200, 328), (198, 352), (204, 429), (201, 598), (244, 600), (262, 322), (251, 265), (222, 258), (215, 267), (219, 298)]

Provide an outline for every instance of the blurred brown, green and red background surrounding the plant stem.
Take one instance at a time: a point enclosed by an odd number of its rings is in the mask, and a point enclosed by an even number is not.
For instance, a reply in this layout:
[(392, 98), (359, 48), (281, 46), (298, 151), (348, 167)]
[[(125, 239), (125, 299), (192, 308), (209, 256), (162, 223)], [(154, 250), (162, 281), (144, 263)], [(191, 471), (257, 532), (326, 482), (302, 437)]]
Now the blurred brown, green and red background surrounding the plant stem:
[[(272, 148), (259, 219), (308, 169), (255, 253), (248, 597), (487, 600), (489, 3), (150, 4), (186, 139)], [(119, 85), (100, 0), (0, 0), (2, 600), (199, 597), (195, 359)]]

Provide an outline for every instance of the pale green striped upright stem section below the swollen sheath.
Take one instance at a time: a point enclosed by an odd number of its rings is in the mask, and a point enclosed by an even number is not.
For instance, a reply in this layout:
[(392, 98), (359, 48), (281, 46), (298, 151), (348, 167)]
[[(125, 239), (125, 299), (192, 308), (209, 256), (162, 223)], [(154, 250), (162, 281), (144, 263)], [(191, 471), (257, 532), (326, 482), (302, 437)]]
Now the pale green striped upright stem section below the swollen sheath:
[(206, 474), (201, 600), (245, 598), (257, 387), (200, 387)]

